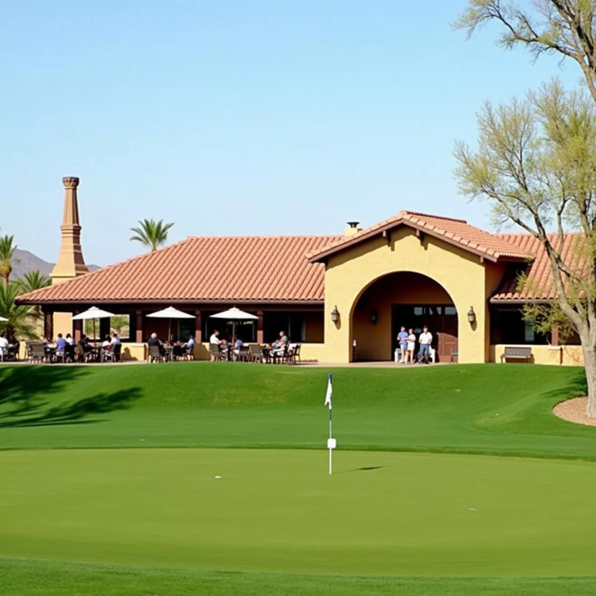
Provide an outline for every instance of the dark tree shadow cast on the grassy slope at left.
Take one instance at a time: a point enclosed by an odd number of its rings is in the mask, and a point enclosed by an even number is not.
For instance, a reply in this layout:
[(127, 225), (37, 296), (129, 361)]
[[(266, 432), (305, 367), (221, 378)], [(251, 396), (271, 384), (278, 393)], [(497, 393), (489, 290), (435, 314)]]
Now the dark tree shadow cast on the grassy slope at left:
[(51, 405), (49, 396), (64, 392), (75, 378), (86, 374), (89, 371), (83, 367), (0, 369), (0, 428), (97, 423), (101, 420), (87, 418), (126, 409), (141, 397), (140, 387), (128, 387)]

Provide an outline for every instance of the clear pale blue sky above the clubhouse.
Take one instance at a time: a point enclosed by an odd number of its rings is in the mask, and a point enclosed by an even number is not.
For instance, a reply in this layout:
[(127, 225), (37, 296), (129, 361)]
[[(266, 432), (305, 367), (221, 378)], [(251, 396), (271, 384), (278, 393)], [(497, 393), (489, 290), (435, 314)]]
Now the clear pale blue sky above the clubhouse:
[(139, 218), (187, 235), (335, 234), (400, 209), (488, 227), (457, 194), (454, 139), (482, 100), (573, 64), (532, 64), (496, 28), (453, 32), (464, 0), (19, 0), (0, 21), (0, 227), (55, 260), (62, 176), (83, 252), (142, 252)]

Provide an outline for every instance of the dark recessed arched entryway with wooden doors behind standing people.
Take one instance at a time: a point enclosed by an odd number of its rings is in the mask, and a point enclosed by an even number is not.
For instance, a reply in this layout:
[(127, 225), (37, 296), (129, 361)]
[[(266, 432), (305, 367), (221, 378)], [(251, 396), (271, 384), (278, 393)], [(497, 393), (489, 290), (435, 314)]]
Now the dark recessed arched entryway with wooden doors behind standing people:
[(457, 309), (445, 288), (426, 275), (399, 271), (373, 281), (353, 305), (353, 359), (392, 359), (401, 325), (416, 336), (427, 325), (439, 362), (449, 361), (458, 349)]

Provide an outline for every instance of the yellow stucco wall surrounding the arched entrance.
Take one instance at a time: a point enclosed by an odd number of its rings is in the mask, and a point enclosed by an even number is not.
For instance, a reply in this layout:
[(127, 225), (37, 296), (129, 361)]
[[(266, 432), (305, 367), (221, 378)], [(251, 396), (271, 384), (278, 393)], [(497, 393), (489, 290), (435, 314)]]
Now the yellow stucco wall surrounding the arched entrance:
[[(429, 235), (421, 243), (414, 230), (403, 227), (393, 231), (389, 244), (386, 238), (373, 238), (330, 257), (325, 271), (325, 352), (328, 362), (350, 361), (353, 340), (350, 318), (356, 301), (373, 281), (396, 271), (427, 275), (451, 296), (458, 312), (460, 362), (489, 359), (486, 300), (488, 287), (496, 277), (496, 268), (487, 274), (480, 257)], [(337, 324), (331, 322), (334, 306), (340, 313)], [(476, 312), (473, 326), (466, 316), (470, 306)], [(380, 325), (381, 321), (374, 333), (381, 333)], [(383, 325), (390, 341), (390, 321)], [(386, 325), (389, 325), (389, 332)]]

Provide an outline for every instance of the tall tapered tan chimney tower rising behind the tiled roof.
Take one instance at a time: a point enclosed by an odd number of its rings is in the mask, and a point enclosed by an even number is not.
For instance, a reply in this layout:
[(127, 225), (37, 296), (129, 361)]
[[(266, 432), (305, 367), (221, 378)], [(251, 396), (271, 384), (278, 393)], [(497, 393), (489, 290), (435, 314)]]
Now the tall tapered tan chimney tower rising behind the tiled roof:
[(76, 195), (79, 179), (67, 176), (62, 179), (62, 183), (65, 189), (64, 213), (60, 226), (62, 244), (58, 261), (52, 269), (52, 284), (61, 284), (89, 272), (80, 248), (79, 204)]

